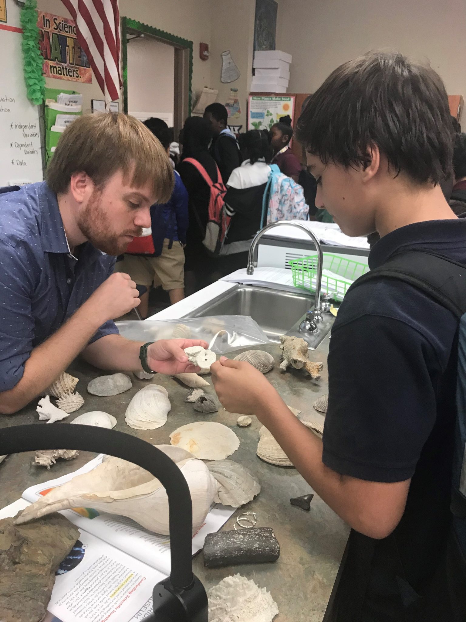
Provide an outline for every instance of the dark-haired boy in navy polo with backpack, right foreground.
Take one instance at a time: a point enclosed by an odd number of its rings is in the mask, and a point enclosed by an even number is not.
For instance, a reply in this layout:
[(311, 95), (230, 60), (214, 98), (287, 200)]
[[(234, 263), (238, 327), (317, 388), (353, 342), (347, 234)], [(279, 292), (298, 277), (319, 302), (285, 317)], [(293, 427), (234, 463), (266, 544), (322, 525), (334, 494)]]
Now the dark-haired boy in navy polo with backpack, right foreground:
[(371, 53), (324, 81), (296, 134), (316, 206), (381, 236), (332, 328), (323, 439), (249, 363), (214, 363), (217, 395), (257, 415), (352, 527), (326, 622), (464, 622), (466, 221), (440, 187), (447, 93), (432, 68)]

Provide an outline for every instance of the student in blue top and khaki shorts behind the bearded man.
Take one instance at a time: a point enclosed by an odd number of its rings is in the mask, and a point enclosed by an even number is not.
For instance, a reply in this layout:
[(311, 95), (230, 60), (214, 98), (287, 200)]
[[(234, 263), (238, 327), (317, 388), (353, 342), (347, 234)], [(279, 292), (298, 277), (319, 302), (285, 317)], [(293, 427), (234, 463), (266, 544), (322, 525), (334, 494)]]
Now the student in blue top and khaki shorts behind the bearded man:
[[(144, 121), (144, 125), (169, 154), (170, 129), (167, 123), (153, 117)], [(176, 171), (174, 175), (175, 187), (170, 200), (150, 208), (153, 253), (140, 254), (139, 245), (144, 238), (137, 238), (127, 248), (123, 261), (119, 261), (115, 267), (116, 272), (127, 272), (137, 285), (147, 287), (147, 292), (140, 296), (139, 312), (143, 318), (148, 315), (149, 290), (152, 286), (162, 285), (172, 305), (185, 297), (183, 246), (188, 230), (188, 193), (180, 175)]]

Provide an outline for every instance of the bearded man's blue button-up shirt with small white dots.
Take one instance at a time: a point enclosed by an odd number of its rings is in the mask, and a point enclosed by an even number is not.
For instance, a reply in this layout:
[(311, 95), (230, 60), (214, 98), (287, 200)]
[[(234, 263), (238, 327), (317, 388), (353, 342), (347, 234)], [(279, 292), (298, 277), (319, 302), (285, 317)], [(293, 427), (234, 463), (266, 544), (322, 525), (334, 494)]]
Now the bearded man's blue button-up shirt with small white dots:
[[(47, 183), (0, 195), (0, 391), (16, 386), (32, 349), (112, 274), (115, 258), (91, 243), (75, 254)], [(106, 322), (89, 343), (112, 333)]]

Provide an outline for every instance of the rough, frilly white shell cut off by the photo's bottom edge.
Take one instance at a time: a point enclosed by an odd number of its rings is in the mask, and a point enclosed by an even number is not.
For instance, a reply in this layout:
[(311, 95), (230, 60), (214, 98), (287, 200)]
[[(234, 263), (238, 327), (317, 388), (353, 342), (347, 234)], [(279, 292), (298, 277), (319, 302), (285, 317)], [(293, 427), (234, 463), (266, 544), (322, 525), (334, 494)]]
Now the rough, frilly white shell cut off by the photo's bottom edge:
[(278, 607), (272, 595), (237, 574), (210, 588), (209, 622), (272, 622)]

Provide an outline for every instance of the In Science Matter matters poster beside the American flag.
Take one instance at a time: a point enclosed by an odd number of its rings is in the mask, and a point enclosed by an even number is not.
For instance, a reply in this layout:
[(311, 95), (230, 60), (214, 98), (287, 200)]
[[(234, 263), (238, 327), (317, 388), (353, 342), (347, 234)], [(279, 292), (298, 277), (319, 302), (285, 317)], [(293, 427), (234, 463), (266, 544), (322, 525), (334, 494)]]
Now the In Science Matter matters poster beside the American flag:
[(37, 12), (39, 46), (44, 58), (43, 75), (58, 80), (92, 82), (92, 70), (85, 51), (76, 39), (76, 24), (67, 17)]

